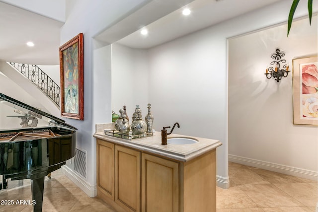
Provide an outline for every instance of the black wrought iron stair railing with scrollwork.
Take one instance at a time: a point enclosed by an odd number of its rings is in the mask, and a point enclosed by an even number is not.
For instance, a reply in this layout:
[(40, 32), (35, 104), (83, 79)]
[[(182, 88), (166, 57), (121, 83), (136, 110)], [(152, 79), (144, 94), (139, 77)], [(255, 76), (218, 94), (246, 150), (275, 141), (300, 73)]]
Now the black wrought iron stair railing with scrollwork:
[(47, 97), (60, 107), (60, 86), (38, 66), (9, 62), (12, 67), (38, 86)]

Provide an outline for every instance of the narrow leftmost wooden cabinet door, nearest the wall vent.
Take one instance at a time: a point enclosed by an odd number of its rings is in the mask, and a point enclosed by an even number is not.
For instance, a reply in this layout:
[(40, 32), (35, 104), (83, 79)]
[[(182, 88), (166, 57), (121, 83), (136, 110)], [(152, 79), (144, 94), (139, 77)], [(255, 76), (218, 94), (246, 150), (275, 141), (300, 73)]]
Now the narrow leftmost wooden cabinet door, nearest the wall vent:
[(106, 196), (115, 200), (115, 145), (97, 139), (97, 196)]

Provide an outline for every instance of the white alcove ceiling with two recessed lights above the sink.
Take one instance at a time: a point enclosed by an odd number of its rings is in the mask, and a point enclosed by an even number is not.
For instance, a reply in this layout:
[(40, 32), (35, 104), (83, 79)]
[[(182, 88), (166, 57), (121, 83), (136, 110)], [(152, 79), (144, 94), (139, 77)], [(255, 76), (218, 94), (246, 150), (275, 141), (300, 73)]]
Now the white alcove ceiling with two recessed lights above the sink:
[[(138, 30), (118, 43), (131, 48), (151, 48), (276, 1), (279, 0), (194, 0), (147, 25), (147, 36), (141, 36)], [(183, 8), (189, 8), (191, 14), (182, 15)]]

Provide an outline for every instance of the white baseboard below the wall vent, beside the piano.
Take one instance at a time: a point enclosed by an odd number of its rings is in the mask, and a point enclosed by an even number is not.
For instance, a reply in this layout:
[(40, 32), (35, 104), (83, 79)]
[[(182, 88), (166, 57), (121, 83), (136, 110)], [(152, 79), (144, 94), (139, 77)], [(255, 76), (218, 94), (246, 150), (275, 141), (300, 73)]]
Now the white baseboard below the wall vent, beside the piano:
[(96, 197), (97, 188), (96, 185), (90, 185), (86, 181), (84, 181), (77, 173), (75, 173), (68, 166), (62, 166), (62, 172), (70, 178), (83, 192), (87, 194), (89, 197)]

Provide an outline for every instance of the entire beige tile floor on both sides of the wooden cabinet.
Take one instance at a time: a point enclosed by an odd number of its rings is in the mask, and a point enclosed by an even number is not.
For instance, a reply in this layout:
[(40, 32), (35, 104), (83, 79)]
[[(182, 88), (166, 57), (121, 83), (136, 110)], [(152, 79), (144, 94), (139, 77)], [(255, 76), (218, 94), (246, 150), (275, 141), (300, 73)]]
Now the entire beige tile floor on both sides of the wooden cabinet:
[[(315, 212), (317, 181), (229, 163), (230, 188), (217, 188), (217, 212)], [(9, 181), (1, 200), (32, 200), (30, 180)], [(43, 212), (115, 212), (90, 198), (60, 170), (45, 178)], [(19, 186), (19, 187), (18, 187)], [(14, 188), (15, 187), (15, 188)], [(0, 205), (0, 212), (32, 212), (31, 205)]]

